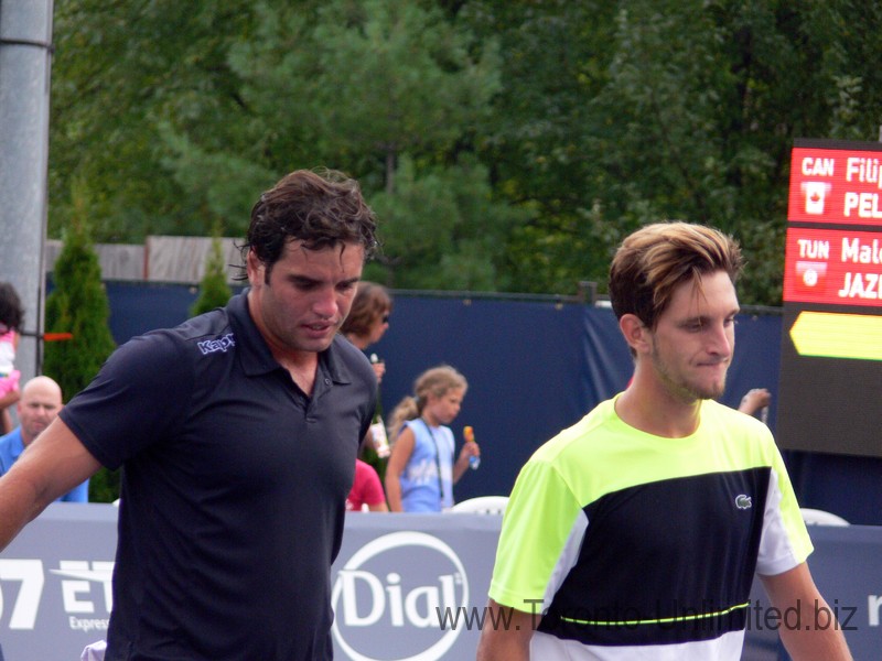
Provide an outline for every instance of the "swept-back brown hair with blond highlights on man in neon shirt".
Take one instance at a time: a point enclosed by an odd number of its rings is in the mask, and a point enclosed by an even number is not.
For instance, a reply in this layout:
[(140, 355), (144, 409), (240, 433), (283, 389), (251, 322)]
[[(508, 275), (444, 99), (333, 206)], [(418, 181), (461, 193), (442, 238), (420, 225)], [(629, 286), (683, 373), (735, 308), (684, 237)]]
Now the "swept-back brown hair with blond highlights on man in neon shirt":
[(610, 301), (617, 318), (634, 314), (655, 328), (680, 283), (714, 271), (725, 271), (734, 283), (743, 268), (732, 237), (703, 225), (656, 223), (619, 247), (610, 267)]

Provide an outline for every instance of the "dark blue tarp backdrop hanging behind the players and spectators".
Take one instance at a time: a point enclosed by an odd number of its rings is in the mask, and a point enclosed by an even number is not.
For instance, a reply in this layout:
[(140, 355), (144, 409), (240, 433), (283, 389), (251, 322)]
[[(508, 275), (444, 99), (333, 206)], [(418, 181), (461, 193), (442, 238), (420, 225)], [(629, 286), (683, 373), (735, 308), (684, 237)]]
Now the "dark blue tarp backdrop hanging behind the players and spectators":
[[(197, 288), (107, 282), (117, 343), (187, 318)], [(459, 441), (472, 425), (482, 464), (469, 472), (459, 500), (508, 494), (520, 466), (545, 441), (598, 402), (624, 389), (632, 360), (609, 308), (555, 301), (396, 293), (384, 338), (368, 351), (386, 361), (380, 392), (388, 415), (412, 392), (421, 371), (449, 364), (469, 379), (451, 425)], [(778, 387), (781, 316), (741, 315), (735, 359), (723, 403), (738, 405), (751, 388)], [(768, 424), (775, 427), (774, 405)], [(831, 420), (830, 434), (836, 434)], [(804, 507), (833, 511), (853, 523), (882, 524), (882, 459), (785, 453)]]

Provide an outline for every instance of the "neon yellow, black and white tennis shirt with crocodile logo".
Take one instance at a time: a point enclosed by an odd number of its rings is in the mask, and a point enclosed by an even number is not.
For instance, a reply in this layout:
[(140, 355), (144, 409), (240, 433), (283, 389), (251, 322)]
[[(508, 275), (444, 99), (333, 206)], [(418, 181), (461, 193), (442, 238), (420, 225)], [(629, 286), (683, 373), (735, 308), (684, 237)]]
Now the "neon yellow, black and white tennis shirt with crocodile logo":
[(813, 550), (772, 434), (706, 401), (692, 435), (654, 436), (614, 401), (521, 469), (490, 596), (542, 615), (534, 659), (738, 660), (754, 573)]

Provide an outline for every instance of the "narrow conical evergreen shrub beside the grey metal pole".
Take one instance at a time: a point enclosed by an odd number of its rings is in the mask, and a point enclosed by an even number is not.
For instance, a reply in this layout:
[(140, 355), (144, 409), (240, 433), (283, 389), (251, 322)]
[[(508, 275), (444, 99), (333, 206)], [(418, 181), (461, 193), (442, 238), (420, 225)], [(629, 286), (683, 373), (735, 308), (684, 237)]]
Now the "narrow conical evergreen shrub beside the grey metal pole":
[[(73, 339), (45, 345), (43, 372), (62, 387), (65, 401), (83, 390), (116, 347), (107, 319), (110, 306), (93, 250), (85, 187), (76, 186), (73, 223), (55, 261), (54, 291), (46, 299), (46, 330), (72, 333)], [(89, 499), (107, 502), (119, 492), (116, 473), (101, 469), (89, 483)]]

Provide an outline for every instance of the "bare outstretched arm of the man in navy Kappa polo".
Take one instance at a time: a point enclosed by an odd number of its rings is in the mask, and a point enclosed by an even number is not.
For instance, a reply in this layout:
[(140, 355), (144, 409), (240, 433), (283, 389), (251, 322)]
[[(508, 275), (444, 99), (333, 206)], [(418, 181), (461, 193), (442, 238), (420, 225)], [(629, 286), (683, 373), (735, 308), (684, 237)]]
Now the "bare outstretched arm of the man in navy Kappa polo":
[(55, 419), (0, 478), (0, 550), (50, 502), (100, 466), (71, 429)]

